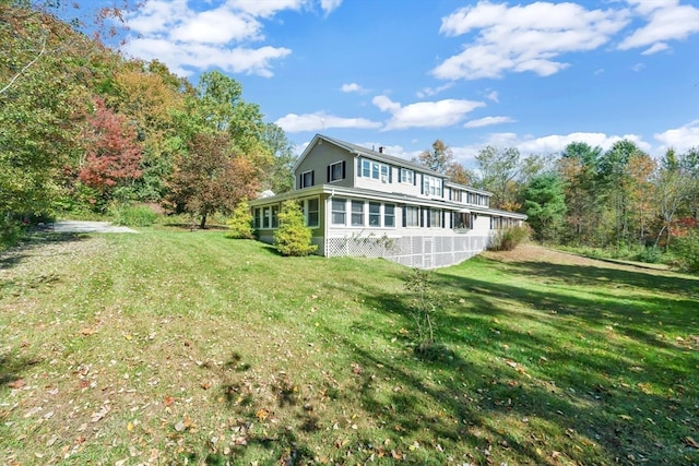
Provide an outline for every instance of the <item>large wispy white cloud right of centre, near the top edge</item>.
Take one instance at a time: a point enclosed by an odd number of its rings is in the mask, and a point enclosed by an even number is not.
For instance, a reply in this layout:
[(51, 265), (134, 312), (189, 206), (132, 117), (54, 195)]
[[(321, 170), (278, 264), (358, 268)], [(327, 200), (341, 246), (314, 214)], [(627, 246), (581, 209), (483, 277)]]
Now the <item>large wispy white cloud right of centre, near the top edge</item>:
[(508, 7), (478, 2), (442, 19), (440, 33), (475, 32), (464, 50), (433, 70), (440, 79), (500, 77), (532, 71), (547, 76), (568, 67), (562, 53), (593, 50), (628, 23), (625, 10), (585, 10), (576, 3), (535, 2)]

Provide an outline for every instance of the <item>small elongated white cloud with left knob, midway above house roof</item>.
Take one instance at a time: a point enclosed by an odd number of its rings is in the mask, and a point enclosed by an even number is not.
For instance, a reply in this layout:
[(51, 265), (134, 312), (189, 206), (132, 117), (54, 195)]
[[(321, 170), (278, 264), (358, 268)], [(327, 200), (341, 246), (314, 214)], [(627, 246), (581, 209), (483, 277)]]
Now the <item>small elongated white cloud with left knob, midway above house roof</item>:
[(384, 127), (388, 130), (406, 128), (443, 128), (458, 123), (471, 110), (484, 107), (482, 101), (445, 99), (437, 101), (418, 101), (402, 106), (387, 96), (376, 96), (372, 100), (381, 111), (391, 113)]

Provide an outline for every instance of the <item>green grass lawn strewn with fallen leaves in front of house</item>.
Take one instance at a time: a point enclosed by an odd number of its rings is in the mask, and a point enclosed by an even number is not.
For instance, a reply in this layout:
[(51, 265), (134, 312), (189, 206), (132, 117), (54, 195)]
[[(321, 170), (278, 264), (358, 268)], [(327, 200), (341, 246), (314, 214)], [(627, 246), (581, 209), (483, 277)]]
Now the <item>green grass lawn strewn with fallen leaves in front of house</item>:
[(0, 464), (699, 463), (699, 278), (486, 254), (435, 273), (424, 358), (410, 274), (35, 237), (0, 255)]

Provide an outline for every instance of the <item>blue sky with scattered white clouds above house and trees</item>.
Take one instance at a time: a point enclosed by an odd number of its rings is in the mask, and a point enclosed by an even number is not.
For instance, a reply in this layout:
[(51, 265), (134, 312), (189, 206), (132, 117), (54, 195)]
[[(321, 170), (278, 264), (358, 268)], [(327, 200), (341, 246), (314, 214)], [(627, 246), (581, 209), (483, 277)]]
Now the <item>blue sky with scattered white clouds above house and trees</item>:
[(149, 0), (128, 56), (239, 81), (300, 153), (699, 146), (699, 1)]

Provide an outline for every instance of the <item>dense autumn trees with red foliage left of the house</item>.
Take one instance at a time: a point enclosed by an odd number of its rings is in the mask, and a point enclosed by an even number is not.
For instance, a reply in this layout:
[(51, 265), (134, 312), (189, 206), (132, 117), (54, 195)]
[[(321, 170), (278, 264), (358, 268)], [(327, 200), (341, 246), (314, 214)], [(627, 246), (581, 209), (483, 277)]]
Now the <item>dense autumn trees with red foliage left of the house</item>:
[[(57, 17), (0, 0), (0, 226), (147, 202), (205, 226), (259, 190), (291, 189), (293, 146), (240, 83), (197, 84), (126, 59)], [(102, 15), (117, 14), (106, 11)]]

